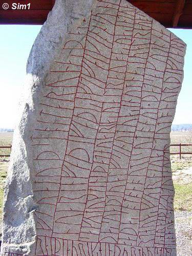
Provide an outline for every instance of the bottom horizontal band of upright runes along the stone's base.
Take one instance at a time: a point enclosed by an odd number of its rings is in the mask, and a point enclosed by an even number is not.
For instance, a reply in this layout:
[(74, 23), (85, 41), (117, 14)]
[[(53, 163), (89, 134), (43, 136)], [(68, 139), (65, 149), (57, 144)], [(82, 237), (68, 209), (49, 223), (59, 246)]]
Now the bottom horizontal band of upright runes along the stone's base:
[[(176, 248), (142, 247), (112, 243), (73, 241), (45, 236), (37, 237), (38, 256), (176, 256)], [(20, 256), (20, 254), (5, 254)]]

